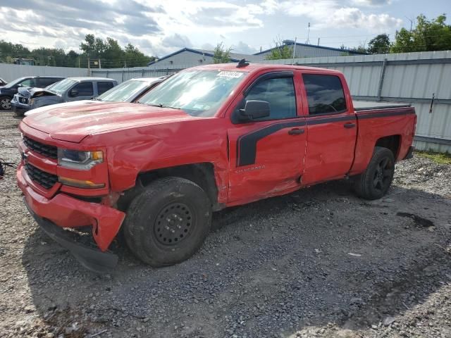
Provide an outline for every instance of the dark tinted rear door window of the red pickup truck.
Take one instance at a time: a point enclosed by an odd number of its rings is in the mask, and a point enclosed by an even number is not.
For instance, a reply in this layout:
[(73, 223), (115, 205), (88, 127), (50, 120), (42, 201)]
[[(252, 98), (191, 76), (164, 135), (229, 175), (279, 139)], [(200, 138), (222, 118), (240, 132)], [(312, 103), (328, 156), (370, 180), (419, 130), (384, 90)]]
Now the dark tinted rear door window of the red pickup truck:
[(334, 114), (346, 111), (345, 92), (340, 77), (335, 75), (303, 74), (309, 114)]

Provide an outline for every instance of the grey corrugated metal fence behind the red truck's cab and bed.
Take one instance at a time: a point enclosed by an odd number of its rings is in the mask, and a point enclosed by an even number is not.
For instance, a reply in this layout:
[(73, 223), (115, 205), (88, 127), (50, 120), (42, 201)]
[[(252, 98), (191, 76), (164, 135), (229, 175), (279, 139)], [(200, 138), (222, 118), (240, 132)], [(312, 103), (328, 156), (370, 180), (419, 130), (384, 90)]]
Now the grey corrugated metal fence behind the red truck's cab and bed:
[(412, 103), (418, 115), (416, 148), (451, 153), (451, 51), (300, 58), (294, 63), (340, 70), (354, 99)]

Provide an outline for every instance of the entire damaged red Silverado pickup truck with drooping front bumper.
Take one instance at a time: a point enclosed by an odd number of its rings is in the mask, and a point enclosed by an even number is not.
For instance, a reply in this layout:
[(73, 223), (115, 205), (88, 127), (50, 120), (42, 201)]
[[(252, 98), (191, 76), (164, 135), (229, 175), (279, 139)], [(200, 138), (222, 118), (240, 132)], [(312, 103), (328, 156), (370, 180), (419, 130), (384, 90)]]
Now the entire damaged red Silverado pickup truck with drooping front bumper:
[[(228, 206), (348, 177), (359, 196), (380, 198), (395, 161), (412, 156), (415, 125), (409, 105), (353, 103), (335, 70), (204, 65), (138, 104), (28, 116), (17, 181), (37, 223), (87, 268), (117, 263), (108, 249), (121, 229), (142, 261), (171, 265)], [(63, 230), (87, 227), (97, 248)]]

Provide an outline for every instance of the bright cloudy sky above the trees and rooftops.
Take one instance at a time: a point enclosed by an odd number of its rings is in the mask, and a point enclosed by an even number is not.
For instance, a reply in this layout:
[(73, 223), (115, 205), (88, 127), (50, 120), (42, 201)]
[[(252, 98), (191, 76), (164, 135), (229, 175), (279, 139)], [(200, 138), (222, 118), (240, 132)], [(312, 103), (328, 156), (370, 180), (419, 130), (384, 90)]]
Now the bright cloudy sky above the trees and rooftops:
[(380, 33), (393, 39), (420, 13), (435, 18), (450, 9), (450, 0), (0, 0), (0, 39), (79, 51), (94, 34), (159, 57), (219, 42), (252, 54), (283, 39), (331, 47), (367, 44)]

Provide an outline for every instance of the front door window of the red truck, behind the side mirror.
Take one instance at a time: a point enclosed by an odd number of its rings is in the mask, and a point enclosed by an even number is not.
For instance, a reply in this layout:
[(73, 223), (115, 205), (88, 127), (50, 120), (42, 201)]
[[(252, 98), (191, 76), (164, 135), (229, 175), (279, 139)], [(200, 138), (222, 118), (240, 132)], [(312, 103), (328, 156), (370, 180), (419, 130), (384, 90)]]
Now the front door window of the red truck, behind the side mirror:
[(261, 80), (252, 87), (245, 101), (267, 101), (270, 107), (270, 115), (258, 120), (280, 120), (283, 118), (295, 118), (296, 94), (292, 77), (279, 77)]

